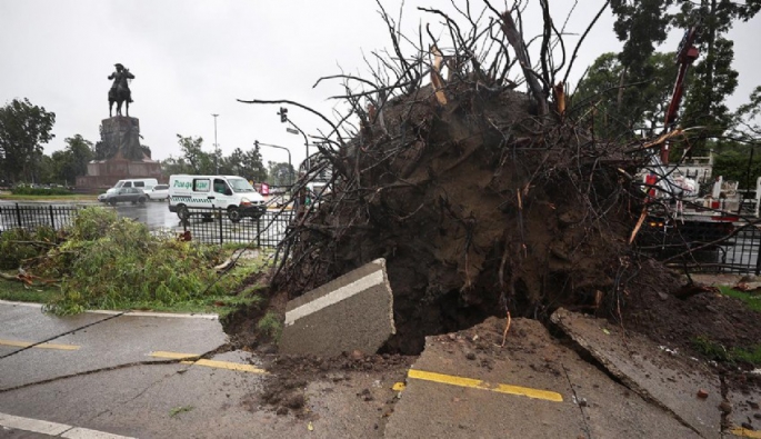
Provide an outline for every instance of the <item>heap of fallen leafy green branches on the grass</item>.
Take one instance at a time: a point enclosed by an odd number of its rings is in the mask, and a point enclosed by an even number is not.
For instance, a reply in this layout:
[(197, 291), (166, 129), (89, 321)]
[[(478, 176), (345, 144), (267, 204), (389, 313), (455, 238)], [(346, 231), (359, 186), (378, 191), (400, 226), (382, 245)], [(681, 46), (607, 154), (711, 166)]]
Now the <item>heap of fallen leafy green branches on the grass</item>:
[(39, 268), (63, 277), (61, 296), (46, 307), (59, 315), (172, 306), (223, 293), (222, 283), (212, 285), (219, 250), (152, 235), (146, 225), (103, 208), (78, 212), (70, 239), (50, 256)]

